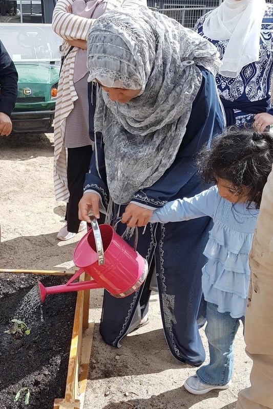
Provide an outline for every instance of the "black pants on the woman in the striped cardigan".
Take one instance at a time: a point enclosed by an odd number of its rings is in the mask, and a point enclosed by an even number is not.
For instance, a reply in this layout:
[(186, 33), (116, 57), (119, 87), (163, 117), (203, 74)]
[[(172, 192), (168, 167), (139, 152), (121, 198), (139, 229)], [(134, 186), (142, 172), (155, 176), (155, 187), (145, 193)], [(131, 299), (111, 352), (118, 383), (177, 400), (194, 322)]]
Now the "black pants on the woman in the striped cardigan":
[(92, 146), (81, 146), (80, 148), (68, 148), (67, 178), (69, 201), (67, 203), (66, 221), (67, 230), (71, 233), (78, 233), (78, 203), (83, 194), (83, 183), (92, 155)]

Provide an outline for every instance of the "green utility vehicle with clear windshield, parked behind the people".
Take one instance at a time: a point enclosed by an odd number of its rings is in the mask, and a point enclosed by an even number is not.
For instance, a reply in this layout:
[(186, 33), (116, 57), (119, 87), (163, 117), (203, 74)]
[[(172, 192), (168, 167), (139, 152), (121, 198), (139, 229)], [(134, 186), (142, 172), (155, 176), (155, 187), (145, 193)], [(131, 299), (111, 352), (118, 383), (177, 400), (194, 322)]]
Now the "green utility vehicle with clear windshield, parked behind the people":
[(0, 24), (0, 38), (18, 72), (13, 132), (52, 132), (61, 38), (51, 24), (11, 23)]

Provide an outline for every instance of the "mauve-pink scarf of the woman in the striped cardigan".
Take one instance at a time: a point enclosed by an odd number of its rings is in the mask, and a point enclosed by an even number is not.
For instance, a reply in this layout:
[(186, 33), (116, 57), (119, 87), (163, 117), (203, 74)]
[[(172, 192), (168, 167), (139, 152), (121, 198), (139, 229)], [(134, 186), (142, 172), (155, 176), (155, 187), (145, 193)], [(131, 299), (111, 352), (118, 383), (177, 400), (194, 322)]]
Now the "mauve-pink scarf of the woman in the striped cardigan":
[[(98, 18), (106, 10), (107, 0), (75, 0), (72, 4), (72, 13), (86, 18)], [(78, 49), (75, 58), (74, 83), (88, 73), (87, 50)]]

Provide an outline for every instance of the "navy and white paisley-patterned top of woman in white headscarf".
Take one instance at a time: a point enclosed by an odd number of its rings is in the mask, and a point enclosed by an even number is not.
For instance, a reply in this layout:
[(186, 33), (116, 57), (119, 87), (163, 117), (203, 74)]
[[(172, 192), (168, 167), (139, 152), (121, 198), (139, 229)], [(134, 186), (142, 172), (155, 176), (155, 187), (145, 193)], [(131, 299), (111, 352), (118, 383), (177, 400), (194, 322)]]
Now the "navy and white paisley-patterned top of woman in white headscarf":
[[(197, 21), (195, 31), (216, 46), (220, 53), (220, 59), (222, 59), (228, 40), (212, 40), (204, 35), (203, 22), (206, 16), (207, 14)], [(271, 108), (270, 101), (273, 69), (272, 51), (273, 5), (267, 4), (261, 27), (259, 61), (246, 65), (236, 78), (228, 78), (220, 74), (216, 75), (220, 98), (236, 103), (234, 113), (237, 126), (242, 126), (245, 122), (252, 124), (256, 113), (268, 112), (270, 115), (273, 115), (273, 108)], [(259, 101), (259, 103), (256, 107), (255, 102), (257, 101)], [(264, 101), (262, 106), (260, 101)], [(249, 102), (254, 103), (254, 113), (244, 111), (244, 106), (249, 104)], [(232, 123), (228, 121), (228, 117), (229, 115), (227, 115), (227, 125), (232, 125)]]

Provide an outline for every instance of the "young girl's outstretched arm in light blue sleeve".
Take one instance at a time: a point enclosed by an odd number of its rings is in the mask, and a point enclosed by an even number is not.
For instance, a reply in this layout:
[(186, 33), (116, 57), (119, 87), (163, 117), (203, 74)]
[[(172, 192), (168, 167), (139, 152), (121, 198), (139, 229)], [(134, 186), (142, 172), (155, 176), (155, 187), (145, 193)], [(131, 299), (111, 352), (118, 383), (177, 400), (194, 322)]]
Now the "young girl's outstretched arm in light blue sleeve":
[(196, 219), (203, 216), (213, 217), (218, 198), (218, 189), (213, 186), (189, 199), (170, 201), (153, 212), (150, 222), (167, 223), (169, 221)]

